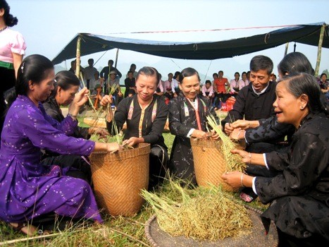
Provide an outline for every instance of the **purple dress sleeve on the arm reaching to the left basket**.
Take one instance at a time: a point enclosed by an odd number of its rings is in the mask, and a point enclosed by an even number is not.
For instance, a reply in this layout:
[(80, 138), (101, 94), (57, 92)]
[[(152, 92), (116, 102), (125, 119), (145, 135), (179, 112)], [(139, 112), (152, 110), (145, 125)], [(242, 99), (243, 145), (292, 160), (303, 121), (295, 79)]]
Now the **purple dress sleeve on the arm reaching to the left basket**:
[[(90, 155), (94, 150), (95, 143), (91, 140), (74, 138), (58, 130), (49, 122), (42, 112), (30, 109), (29, 114), (25, 111), (15, 114), (15, 128), (18, 133), (30, 139), (35, 147), (57, 152), (61, 155)], [(73, 119), (66, 118), (61, 127), (72, 128)], [(75, 123), (76, 124), (76, 123)]]

